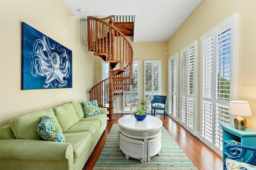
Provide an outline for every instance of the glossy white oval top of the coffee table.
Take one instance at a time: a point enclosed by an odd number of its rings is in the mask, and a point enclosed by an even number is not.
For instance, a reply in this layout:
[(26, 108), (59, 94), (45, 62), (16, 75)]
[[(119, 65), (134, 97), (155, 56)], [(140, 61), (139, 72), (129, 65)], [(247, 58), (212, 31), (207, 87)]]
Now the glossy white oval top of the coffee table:
[(125, 115), (118, 120), (118, 124), (122, 128), (140, 132), (156, 130), (163, 125), (161, 119), (150, 115), (147, 115), (143, 121), (137, 121), (132, 115)]

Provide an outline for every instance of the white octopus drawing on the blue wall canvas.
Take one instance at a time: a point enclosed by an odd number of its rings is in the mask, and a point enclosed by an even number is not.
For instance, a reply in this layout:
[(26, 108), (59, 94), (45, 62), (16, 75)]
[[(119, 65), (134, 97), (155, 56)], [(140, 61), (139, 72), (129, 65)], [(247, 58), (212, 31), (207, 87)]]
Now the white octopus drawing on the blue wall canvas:
[(51, 46), (48, 37), (45, 35), (43, 35), (42, 40), (37, 39), (34, 43), (33, 50), (35, 55), (31, 58), (30, 73), (34, 77), (38, 75), (46, 76), (45, 88), (49, 86), (61, 88), (67, 84), (66, 79), (70, 73), (70, 60), (66, 50), (59, 48), (59, 46)]

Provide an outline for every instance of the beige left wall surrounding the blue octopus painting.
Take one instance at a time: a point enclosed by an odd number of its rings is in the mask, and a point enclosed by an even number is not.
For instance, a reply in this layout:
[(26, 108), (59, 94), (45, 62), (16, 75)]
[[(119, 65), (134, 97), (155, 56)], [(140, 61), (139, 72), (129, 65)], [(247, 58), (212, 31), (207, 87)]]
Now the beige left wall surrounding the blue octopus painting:
[[(0, 126), (25, 113), (87, 99), (95, 57), (87, 50), (82, 17), (73, 16), (61, 0), (1, 0), (0, 17)], [(22, 22), (72, 50), (72, 88), (21, 90)]]

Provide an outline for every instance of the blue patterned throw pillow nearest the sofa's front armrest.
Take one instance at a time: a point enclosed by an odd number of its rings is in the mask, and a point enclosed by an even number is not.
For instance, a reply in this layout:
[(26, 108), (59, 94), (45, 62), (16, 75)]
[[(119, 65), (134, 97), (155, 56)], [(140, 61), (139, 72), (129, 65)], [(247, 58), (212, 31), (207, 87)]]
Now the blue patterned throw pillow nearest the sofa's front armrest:
[(44, 140), (65, 143), (65, 137), (61, 128), (51, 117), (43, 116), (37, 131)]

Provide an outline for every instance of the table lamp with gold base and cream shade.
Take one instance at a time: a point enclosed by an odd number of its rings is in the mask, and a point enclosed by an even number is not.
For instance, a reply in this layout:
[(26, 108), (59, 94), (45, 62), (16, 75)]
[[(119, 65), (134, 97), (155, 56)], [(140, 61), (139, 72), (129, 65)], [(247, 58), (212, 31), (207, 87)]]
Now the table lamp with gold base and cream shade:
[(247, 121), (242, 116), (252, 116), (252, 111), (248, 101), (230, 101), (229, 114), (235, 115), (234, 125), (236, 129), (245, 130)]

